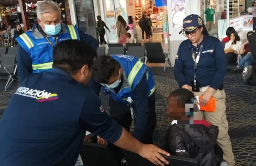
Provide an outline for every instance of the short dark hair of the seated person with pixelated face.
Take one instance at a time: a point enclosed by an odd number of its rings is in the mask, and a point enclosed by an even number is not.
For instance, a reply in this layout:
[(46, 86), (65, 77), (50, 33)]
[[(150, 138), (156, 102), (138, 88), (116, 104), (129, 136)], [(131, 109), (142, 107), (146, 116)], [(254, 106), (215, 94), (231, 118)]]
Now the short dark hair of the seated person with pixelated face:
[(168, 98), (171, 97), (181, 99), (181, 101), (183, 101), (182, 106), (185, 107), (185, 104), (194, 103), (193, 99), (195, 96), (192, 91), (185, 88), (179, 88), (171, 92)]

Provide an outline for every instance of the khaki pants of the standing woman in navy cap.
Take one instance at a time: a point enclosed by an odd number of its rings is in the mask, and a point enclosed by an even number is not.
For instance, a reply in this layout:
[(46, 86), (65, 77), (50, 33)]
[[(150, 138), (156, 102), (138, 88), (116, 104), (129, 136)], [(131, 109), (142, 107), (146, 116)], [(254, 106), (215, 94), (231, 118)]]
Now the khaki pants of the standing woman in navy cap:
[[(196, 96), (202, 95), (204, 92), (194, 92)], [(228, 166), (234, 166), (234, 154), (228, 135), (228, 121), (226, 116), (226, 93), (224, 90), (216, 90), (212, 95), (216, 98), (215, 112), (198, 111), (194, 112), (194, 120), (205, 119), (209, 123), (219, 127), (219, 135), (217, 142), (223, 150), (223, 160), (228, 162)]]

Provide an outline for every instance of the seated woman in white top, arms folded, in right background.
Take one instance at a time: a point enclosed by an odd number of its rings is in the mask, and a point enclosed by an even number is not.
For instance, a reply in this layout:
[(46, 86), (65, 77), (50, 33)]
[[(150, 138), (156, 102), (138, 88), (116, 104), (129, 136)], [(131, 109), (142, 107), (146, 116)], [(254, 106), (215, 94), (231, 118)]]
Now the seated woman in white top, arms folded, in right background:
[(239, 50), (243, 44), (236, 31), (232, 32), (229, 38), (230, 40), (225, 44), (224, 51), (227, 57), (227, 64), (235, 64), (238, 63)]

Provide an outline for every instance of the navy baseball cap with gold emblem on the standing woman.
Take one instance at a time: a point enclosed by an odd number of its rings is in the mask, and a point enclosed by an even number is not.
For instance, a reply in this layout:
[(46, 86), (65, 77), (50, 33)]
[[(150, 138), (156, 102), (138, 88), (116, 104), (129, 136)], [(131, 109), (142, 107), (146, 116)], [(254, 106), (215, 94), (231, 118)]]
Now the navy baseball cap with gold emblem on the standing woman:
[(184, 18), (183, 20), (183, 29), (180, 31), (181, 34), (183, 31), (185, 32), (194, 32), (197, 28), (203, 27), (204, 21), (197, 14), (191, 14)]

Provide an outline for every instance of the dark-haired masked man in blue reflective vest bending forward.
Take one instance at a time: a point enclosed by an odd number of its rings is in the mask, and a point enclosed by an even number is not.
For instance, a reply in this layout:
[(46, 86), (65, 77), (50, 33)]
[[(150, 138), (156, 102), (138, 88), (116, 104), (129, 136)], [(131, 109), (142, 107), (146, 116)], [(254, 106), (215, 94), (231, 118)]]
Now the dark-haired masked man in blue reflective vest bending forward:
[[(129, 55), (100, 56), (94, 61), (94, 79), (110, 94), (110, 116), (143, 143), (153, 143), (156, 127), (155, 81), (152, 71), (139, 59)], [(117, 160), (121, 152), (111, 147)]]

